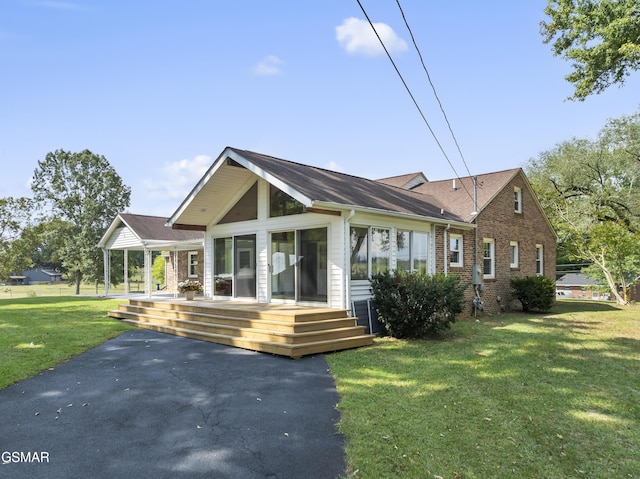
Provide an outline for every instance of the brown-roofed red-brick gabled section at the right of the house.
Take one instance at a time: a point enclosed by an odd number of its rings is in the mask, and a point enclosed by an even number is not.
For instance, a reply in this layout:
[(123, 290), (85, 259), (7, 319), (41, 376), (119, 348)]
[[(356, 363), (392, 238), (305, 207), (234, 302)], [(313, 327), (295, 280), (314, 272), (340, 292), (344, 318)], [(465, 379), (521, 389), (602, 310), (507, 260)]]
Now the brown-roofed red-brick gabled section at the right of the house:
[(475, 184), (465, 177), (412, 187), (475, 225), (473, 230), (436, 227), (436, 243), (449, 245), (447, 256), (436, 254), (436, 268), (471, 284), (466, 294), (477, 295), (488, 313), (519, 308), (510, 280), (544, 275), (555, 281), (557, 236), (521, 168), (477, 175)]

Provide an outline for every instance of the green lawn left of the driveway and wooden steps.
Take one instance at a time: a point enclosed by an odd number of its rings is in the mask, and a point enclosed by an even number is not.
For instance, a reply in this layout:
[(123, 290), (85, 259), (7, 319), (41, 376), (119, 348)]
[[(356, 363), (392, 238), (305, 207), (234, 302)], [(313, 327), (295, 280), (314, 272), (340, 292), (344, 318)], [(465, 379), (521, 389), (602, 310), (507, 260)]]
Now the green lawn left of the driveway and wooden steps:
[(131, 329), (107, 317), (121, 302), (73, 296), (0, 300), (0, 389)]

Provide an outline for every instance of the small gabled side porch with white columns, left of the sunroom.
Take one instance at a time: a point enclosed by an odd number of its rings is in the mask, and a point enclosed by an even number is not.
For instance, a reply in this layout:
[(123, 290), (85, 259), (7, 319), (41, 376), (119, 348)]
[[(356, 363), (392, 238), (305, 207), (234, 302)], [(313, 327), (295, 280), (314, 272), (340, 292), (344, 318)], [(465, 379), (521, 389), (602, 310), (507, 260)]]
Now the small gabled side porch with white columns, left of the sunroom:
[(98, 243), (105, 255), (105, 294), (109, 294), (112, 250), (124, 251), (125, 294), (129, 293), (129, 251), (144, 252), (145, 293), (156, 289), (152, 283), (152, 253), (165, 251), (166, 290), (177, 294), (177, 284), (187, 278), (204, 281), (202, 265), (203, 234), (198, 231), (179, 231), (166, 227), (167, 219), (160, 216), (120, 213)]

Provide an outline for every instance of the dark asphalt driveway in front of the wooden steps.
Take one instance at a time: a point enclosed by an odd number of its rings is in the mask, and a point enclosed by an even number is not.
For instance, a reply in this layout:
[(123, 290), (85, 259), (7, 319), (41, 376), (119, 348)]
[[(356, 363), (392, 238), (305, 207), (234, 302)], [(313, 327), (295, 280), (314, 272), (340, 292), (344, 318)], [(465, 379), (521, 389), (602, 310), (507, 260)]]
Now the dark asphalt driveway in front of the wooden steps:
[(345, 474), (322, 356), (129, 331), (0, 391), (0, 477)]

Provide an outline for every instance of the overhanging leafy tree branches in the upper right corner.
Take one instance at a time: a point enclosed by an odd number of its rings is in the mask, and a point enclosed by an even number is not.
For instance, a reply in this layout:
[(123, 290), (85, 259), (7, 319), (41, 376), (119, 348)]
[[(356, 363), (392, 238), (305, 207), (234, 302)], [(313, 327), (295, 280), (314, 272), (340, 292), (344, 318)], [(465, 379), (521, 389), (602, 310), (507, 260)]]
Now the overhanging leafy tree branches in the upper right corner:
[(565, 78), (584, 100), (620, 84), (640, 68), (640, 3), (638, 0), (549, 0), (549, 17), (540, 22), (553, 53), (573, 62)]

